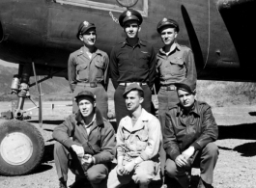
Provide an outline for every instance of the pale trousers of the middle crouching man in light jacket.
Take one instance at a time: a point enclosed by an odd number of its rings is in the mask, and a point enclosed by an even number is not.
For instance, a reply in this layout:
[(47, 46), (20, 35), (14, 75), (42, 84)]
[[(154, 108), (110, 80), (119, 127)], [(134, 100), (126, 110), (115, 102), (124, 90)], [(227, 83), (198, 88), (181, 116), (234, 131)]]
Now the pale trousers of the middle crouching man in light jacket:
[(111, 170), (107, 179), (107, 188), (118, 188), (128, 184), (131, 179), (137, 184), (148, 185), (157, 173), (157, 164), (154, 161), (143, 161), (135, 166), (129, 175), (118, 175), (117, 166)]

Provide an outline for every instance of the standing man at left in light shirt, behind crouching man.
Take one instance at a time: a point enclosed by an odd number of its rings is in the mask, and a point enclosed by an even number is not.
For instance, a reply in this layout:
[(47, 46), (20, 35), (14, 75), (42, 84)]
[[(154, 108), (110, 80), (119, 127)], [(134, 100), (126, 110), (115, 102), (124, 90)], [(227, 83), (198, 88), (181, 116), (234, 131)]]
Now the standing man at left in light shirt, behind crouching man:
[[(68, 63), (69, 82), (72, 98), (82, 91), (90, 91), (96, 95), (97, 107), (102, 116), (107, 119), (107, 85), (109, 59), (105, 52), (95, 45), (97, 40), (94, 23), (83, 21), (78, 27), (76, 38), (83, 46), (71, 53)], [(76, 102), (72, 101), (72, 112), (78, 110)]]

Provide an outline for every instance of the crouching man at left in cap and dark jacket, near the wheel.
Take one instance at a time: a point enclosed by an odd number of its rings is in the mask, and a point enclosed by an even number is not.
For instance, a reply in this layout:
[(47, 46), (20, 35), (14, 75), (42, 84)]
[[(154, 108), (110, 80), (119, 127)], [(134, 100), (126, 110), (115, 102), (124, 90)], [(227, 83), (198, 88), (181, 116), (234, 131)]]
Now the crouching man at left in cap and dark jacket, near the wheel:
[[(84, 187), (87, 178), (93, 188), (106, 187), (106, 176), (115, 155), (115, 131), (102, 118), (95, 95), (89, 91), (75, 96), (76, 114), (54, 128), (54, 161), (60, 188), (67, 188), (68, 170), (76, 175), (72, 187)], [(82, 163), (82, 164), (81, 164)]]

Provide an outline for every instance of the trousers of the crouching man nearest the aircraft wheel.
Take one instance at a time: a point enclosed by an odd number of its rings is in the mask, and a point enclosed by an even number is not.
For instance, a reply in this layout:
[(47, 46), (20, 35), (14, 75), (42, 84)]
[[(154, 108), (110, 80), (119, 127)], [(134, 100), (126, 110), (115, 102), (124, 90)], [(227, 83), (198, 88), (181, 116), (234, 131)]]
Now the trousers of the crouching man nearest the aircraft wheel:
[(105, 164), (97, 164), (89, 167), (87, 172), (84, 172), (77, 155), (59, 142), (54, 146), (54, 161), (57, 170), (57, 175), (60, 180), (68, 180), (69, 169), (74, 175), (87, 178), (94, 188), (106, 187), (105, 177), (108, 175), (108, 167)]

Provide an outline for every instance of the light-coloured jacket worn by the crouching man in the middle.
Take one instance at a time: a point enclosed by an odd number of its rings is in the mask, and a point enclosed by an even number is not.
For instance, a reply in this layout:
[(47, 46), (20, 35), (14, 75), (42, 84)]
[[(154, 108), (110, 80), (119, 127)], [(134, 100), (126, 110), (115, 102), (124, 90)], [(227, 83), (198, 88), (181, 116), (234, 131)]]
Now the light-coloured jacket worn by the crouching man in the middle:
[(120, 121), (116, 137), (118, 156), (140, 156), (144, 161), (151, 160), (158, 155), (162, 143), (160, 122), (142, 109), (134, 126), (128, 116)]

